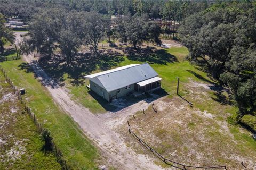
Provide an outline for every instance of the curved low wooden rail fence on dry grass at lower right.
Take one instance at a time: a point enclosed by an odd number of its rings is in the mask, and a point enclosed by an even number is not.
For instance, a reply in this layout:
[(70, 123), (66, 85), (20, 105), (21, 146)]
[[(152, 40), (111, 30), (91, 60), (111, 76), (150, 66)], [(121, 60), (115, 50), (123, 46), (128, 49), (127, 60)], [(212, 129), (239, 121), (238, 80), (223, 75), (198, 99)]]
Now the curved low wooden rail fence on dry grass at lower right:
[[(144, 147), (146, 147), (148, 150), (150, 150), (156, 157), (158, 157), (159, 159), (161, 159), (165, 164), (170, 165), (172, 167), (175, 167), (177, 169), (182, 169), (182, 170), (188, 170), (189, 168), (193, 168), (193, 169), (226, 169), (226, 165), (225, 166), (213, 166), (213, 167), (201, 167), (201, 166), (189, 166), (189, 165), (184, 165), (178, 162), (175, 162), (173, 160), (170, 159), (166, 159), (165, 157), (163, 157), (161, 154), (159, 154), (156, 150), (154, 150), (153, 148), (151, 148), (146, 142), (144, 142), (142, 139), (140, 139), (138, 137), (138, 135), (136, 135), (132, 130), (131, 130), (131, 126), (129, 121), (127, 121), (128, 124), (128, 131), (129, 133), (131, 133), (133, 135), (133, 137), (135, 139), (137, 139), (141, 145), (143, 145)], [(227, 169), (226, 169), (227, 170)]]

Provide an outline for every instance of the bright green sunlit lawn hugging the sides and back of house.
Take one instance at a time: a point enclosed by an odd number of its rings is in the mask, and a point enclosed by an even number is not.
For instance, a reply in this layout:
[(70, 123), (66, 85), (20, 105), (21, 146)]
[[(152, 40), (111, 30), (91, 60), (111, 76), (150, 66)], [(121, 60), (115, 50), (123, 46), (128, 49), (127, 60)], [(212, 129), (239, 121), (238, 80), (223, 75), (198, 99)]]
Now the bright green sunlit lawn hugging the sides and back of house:
[[(189, 64), (188, 61), (184, 61), (186, 55), (188, 55), (188, 50), (186, 47), (171, 47), (169, 49), (164, 49), (167, 54), (171, 54), (177, 58), (177, 62), (166, 63), (166, 64), (154, 64), (150, 65), (155, 69), (159, 74), (159, 77), (163, 78), (162, 87), (166, 92), (170, 94), (170, 97), (175, 94), (177, 87), (177, 78), (180, 77), (180, 88), (182, 89), (183, 84), (188, 82), (189, 79), (195, 81), (210, 81), (207, 78), (206, 73), (196, 69), (196, 67)], [(117, 66), (124, 66), (129, 64), (141, 64), (145, 63), (143, 61), (129, 60), (127, 57), (124, 57), (124, 61), (120, 62)], [(100, 72), (101, 70), (95, 70), (95, 72)], [(105, 113), (106, 109), (111, 109), (110, 104), (105, 100), (101, 99), (97, 95), (90, 95), (85, 86), (85, 83), (82, 85), (74, 86), (70, 83), (72, 79), (68, 79), (68, 75), (64, 76), (65, 84), (70, 90), (70, 93), (73, 95), (73, 99), (89, 108), (93, 113)]]

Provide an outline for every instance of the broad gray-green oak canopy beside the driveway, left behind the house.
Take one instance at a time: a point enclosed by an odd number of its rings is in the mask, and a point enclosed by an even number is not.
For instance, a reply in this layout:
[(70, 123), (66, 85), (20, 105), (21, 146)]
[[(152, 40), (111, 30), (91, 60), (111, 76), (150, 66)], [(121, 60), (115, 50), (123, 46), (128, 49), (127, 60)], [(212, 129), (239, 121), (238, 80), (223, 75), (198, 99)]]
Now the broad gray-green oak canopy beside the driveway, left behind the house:
[(54, 50), (61, 50), (69, 65), (82, 45), (92, 45), (97, 53), (109, 23), (108, 18), (96, 12), (68, 12), (57, 8), (41, 11), (31, 19), (29, 39), (21, 47), (25, 53), (36, 50), (49, 56)]

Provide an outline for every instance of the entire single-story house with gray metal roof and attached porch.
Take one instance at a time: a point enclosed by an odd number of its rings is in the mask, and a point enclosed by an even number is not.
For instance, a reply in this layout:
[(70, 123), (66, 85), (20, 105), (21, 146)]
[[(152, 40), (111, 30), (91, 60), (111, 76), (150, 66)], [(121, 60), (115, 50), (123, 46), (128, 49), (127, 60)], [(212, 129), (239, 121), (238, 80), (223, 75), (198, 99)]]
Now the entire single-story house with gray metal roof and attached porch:
[(86, 75), (92, 91), (112, 101), (127, 94), (143, 94), (161, 87), (161, 78), (148, 64), (130, 64), (116, 69)]

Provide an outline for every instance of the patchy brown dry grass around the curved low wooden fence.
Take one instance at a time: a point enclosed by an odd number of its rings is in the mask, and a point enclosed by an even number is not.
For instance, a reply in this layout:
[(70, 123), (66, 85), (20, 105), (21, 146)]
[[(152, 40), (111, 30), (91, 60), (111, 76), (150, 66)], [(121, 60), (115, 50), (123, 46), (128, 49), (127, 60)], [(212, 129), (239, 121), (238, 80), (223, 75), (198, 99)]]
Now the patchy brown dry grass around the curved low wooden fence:
[[(178, 96), (165, 97), (154, 103), (157, 113), (150, 106), (146, 115), (139, 111), (135, 114), (136, 119), (131, 116), (131, 129), (164, 157), (175, 162), (243, 169), (243, 161), (248, 168), (255, 169), (256, 142), (248, 132), (226, 122), (230, 115), (227, 111), (234, 108), (212, 99), (213, 92), (203, 86), (186, 86), (182, 96), (194, 103), (194, 107)], [(135, 151), (139, 148), (141, 152), (142, 148), (154, 158), (132, 135), (128, 135), (127, 126), (122, 126), (120, 131)], [(161, 165), (157, 158), (154, 161)]]

